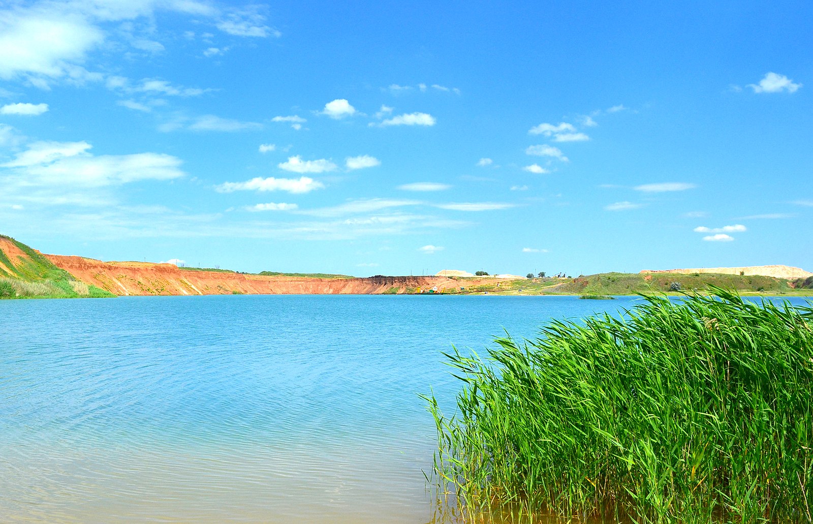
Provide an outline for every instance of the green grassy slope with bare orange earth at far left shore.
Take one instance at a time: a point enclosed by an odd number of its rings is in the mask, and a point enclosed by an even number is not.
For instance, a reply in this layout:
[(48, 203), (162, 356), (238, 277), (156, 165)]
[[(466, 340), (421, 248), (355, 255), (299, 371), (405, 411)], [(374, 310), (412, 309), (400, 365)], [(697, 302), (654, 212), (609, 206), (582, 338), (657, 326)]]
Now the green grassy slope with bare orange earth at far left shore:
[(0, 299), (77, 299), (112, 297), (76, 280), (45, 256), (14, 238), (0, 235)]

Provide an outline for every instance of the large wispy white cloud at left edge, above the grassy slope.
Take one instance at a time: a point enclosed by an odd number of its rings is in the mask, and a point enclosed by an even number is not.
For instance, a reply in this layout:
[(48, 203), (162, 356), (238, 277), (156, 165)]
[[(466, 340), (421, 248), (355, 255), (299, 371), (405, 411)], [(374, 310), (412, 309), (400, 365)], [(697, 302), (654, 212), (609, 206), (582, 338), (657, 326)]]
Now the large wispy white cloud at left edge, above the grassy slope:
[(26, 185), (101, 187), (141, 180), (183, 177), (181, 160), (172, 155), (89, 153), (87, 142), (33, 142), (2, 168), (23, 177)]

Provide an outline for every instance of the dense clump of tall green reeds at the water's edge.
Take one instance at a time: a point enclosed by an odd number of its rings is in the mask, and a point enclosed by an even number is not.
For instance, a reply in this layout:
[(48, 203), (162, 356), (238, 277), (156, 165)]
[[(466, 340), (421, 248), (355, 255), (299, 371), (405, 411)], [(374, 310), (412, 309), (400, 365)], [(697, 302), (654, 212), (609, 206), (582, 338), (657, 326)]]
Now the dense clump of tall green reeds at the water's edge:
[(469, 517), (813, 522), (813, 308), (712, 291), (446, 354), (464, 385), (453, 417), (425, 397), (440, 492)]

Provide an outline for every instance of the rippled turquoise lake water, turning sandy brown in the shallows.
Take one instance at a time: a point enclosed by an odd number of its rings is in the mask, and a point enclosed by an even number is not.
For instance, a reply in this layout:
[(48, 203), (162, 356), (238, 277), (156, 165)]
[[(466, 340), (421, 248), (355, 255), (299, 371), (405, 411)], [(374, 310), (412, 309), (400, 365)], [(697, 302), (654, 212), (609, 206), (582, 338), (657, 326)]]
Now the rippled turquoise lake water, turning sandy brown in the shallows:
[(635, 300), (0, 301), (0, 520), (435, 522), (441, 352)]

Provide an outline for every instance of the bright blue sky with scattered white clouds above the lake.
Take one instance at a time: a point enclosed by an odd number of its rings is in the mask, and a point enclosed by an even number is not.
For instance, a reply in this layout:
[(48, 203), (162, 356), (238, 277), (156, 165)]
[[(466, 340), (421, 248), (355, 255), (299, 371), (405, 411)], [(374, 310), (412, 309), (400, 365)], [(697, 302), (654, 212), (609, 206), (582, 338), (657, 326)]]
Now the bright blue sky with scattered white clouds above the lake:
[(811, 2), (0, 2), (0, 233), (241, 271), (813, 269)]

